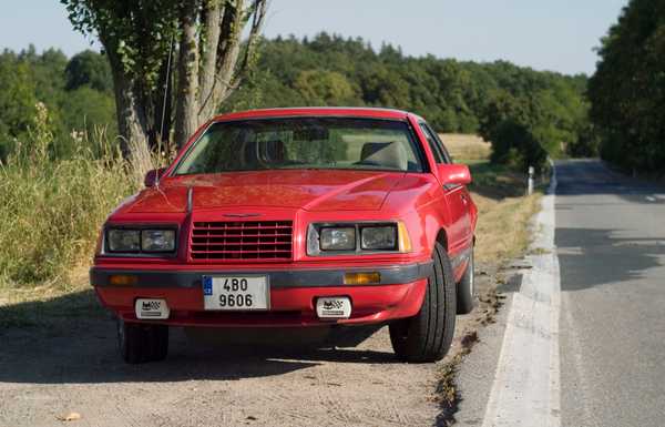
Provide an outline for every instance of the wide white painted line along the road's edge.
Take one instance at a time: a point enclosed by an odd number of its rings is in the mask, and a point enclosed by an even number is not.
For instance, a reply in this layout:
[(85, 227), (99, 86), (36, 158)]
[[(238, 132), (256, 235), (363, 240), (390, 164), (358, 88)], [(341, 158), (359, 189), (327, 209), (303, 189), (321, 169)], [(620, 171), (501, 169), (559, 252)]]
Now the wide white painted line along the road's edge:
[(554, 245), (556, 171), (535, 218), (533, 268), (512, 298), (483, 427), (561, 426), (561, 279)]

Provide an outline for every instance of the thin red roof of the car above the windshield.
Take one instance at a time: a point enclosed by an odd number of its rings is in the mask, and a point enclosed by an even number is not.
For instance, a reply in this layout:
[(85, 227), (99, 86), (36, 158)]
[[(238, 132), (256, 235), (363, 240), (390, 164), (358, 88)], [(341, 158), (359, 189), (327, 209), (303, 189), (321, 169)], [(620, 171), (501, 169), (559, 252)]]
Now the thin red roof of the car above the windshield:
[(321, 115), (406, 120), (409, 114), (409, 112), (402, 110), (368, 106), (298, 106), (238, 111), (219, 114), (213, 121)]

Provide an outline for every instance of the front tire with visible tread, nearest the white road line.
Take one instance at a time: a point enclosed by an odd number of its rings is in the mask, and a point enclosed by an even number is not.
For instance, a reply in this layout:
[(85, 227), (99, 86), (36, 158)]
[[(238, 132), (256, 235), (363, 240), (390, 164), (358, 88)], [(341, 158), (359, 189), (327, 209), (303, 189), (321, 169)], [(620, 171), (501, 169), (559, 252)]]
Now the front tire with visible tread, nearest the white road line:
[(411, 363), (437, 362), (450, 348), (454, 334), (456, 286), (450, 260), (437, 243), (434, 268), (428, 279), (420, 312), (390, 324), (390, 342), (397, 357)]

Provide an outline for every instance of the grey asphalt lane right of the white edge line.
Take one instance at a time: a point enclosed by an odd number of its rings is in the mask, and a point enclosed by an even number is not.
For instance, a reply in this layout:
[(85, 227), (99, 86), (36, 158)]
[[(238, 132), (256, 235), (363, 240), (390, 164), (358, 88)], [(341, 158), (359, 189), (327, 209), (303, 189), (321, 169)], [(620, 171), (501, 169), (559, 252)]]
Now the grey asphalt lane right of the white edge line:
[(556, 164), (561, 424), (665, 426), (665, 190)]

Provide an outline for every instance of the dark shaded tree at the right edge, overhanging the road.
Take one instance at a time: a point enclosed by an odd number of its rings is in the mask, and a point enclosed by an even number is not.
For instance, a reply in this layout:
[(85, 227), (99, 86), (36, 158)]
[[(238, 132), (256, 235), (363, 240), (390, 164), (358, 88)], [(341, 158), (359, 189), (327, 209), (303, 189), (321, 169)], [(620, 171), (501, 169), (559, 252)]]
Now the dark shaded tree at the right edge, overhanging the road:
[(632, 0), (598, 53), (589, 98), (601, 154), (626, 169), (665, 171), (665, 0)]

